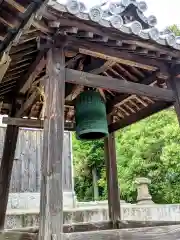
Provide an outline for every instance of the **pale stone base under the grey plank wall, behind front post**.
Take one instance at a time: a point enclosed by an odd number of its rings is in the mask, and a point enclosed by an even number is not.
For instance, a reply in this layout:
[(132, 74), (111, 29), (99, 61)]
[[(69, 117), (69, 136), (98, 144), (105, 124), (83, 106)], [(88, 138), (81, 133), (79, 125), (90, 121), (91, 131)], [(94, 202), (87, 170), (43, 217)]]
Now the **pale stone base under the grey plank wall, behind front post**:
[[(64, 192), (64, 208), (74, 208), (76, 206), (76, 195), (74, 192)], [(40, 193), (10, 193), (7, 209), (39, 209)]]

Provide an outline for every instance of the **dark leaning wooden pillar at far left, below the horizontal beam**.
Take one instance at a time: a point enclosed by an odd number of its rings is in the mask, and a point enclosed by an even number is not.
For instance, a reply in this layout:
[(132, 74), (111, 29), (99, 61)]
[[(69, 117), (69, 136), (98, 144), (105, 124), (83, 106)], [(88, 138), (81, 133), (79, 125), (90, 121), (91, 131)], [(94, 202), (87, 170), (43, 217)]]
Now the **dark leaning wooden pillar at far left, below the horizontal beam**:
[(8, 125), (0, 166), (0, 230), (4, 229), (13, 160), (18, 138), (17, 126)]

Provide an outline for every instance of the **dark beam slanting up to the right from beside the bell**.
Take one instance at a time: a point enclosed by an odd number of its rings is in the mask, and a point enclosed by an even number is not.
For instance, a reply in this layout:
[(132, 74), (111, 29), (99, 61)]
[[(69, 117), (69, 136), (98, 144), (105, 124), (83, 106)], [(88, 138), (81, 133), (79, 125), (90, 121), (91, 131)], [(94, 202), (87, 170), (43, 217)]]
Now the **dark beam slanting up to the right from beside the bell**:
[(132, 113), (130, 116), (121, 119), (115, 123), (111, 123), (109, 125), (109, 132), (114, 132), (117, 131), (118, 129), (127, 127), (137, 121), (140, 121), (146, 117), (149, 117), (150, 115), (157, 113), (163, 109), (166, 109), (168, 107), (170, 107), (172, 105), (172, 103), (166, 103), (166, 102), (155, 102), (151, 105), (149, 105), (149, 107), (145, 107), (139, 111), (137, 111), (136, 113)]

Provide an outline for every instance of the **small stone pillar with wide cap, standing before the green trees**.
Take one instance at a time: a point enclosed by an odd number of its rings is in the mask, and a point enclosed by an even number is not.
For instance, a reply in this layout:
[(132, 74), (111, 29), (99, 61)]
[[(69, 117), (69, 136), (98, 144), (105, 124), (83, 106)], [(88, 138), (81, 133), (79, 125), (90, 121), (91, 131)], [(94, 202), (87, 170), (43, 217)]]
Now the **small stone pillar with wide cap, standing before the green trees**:
[(137, 203), (138, 204), (151, 204), (152, 196), (149, 193), (148, 185), (151, 180), (148, 178), (136, 178), (135, 183), (137, 185)]

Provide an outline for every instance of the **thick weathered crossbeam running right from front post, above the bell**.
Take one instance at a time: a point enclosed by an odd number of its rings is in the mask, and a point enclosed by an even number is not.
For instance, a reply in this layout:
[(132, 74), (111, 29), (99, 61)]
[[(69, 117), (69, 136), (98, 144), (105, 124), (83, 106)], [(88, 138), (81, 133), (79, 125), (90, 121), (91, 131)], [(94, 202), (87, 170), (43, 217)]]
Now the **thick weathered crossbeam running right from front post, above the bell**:
[(169, 102), (174, 101), (174, 93), (171, 90), (72, 69), (66, 69), (66, 81), (89, 87), (109, 89), (119, 93), (136, 94)]

